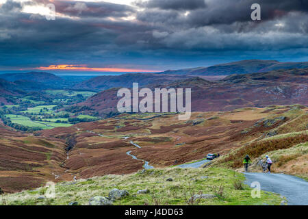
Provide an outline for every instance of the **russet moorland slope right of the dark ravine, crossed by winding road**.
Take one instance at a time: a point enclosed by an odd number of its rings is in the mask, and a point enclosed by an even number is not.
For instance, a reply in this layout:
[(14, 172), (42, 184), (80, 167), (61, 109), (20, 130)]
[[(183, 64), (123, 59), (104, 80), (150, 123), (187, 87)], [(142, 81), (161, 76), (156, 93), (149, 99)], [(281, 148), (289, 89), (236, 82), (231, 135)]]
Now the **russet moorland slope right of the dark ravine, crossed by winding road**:
[[(142, 169), (144, 163), (131, 159), (127, 151), (155, 168), (203, 159), (207, 153), (226, 155), (257, 138), (306, 130), (307, 121), (298, 116), (307, 117), (307, 108), (294, 110), (294, 106), (281, 106), (195, 112), (189, 121), (179, 121), (177, 115), (171, 114), (123, 114), (38, 133), (42, 137), (70, 140), (66, 168), (78, 178), (88, 178)], [(269, 122), (255, 126), (259, 120)], [(292, 126), (293, 123), (298, 124), (296, 129), (286, 129), (286, 124)], [(307, 136), (296, 138), (292, 145), (305, 141)]]

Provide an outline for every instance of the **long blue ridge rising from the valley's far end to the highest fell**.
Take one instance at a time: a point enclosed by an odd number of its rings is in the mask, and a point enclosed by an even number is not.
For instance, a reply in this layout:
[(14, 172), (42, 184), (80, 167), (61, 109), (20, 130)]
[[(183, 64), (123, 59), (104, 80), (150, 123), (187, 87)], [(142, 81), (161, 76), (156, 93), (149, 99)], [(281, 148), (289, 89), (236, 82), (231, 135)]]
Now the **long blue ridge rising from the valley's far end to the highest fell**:
[(77, 90), (102, 91), (110, 88), (130, 88), (133, 82), (140, 86), (164, 85), (172, 81), (189, 79), (191, 77), (265, 73), (271, 70), (308, 68), (308, 62), (278, 62), (272, 60), (244, 60), (210, 67), (185, 68), (180, 70), (166, 70), (162, 73), (134, 73), (117, 76), (99, 76), (82, 81), (73, 86)]

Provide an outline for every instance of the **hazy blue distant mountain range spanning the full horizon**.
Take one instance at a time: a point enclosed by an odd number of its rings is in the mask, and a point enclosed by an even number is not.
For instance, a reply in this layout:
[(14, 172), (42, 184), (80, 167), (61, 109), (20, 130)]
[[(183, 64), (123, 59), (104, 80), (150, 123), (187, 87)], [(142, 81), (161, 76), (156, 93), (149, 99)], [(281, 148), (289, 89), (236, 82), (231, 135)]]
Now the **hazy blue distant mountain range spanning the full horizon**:
[[(3, 74), (0, 75), (0, 103), (10, 104), (12, 101), (8, 99), (9, 96), (18, 96), (23, 95), (27, 92), (40, 92), (40, 90), (47, 89), (72, 89), (72, 90), (92, 90), (96, 92), (101, 92), (105, 90), (107, 96), (111, 96), (110, 88), (131, 88), (133, 82), (138, 82), (140, 87), (149, 87), (149, 88), (161, 88), (164, 86), (175, 86), (177, 83), (185, 83), (187, 86), (194, 88), (196, 86), (196, 80), (198, 83), (200, 80), (207, 79), (209, 77), (220, 77), (220, 79), (224, 78), (220, 81), (209, 82), (206, 81), (207, 86), (203, 86), (203, 90), (200, 90), (200, 94), (203, 94), (205, 90), (207, 90), (207, 96), (211, 96), (212, 94), (219, 99), (219, 101), (213, 100), (214, 102), (221, 102), (224, 99), (224, 104), (222, 103), (211, 103), (211, 105), (202, 104), (196, 106), (196, 109), (200, 110), (228, 110), (229, 101), (232, 99), (230, 94), (224, 94), (220, 96), (220, 92), (224, 90), (224, 92), (231, 92), (231, 88), (227, 90), (224, 89), (232, 84), (232, 87), (238, 87), (239, 90), (242, 89), (243, 86), (247, 88), (247, 86), (251, 86), (253, 84), (255, 86), (255, 92), (264, 88), (264, 83), (266, 81), (266, 86), (268, 84), (276, 83), (275, 86), (287, 86), (285, 83), (291, 83), (291, 80), (296, 80), (296, 83), (307, 85), (307, 77), (303, 77), (300, 73), (307, 73), (308, 62), (278, 62), (272, 60), (244, 60), (240, 62), (231, 62), (227, 64), (218, 64), (210, 67), (200, 67), (200, 68), (187, 68), (182, 70), (167, 70), (164, 73), (129, 73), (124, 75), (105, 75), (99, 77), (58, 77), (51, 73), (38, 73), (38, 72), (30, 72), (30, 73), (13, 73), (13, 74)], [(277, 70), (277, 69), (285, 69), (285, 70)], [(300, 70), (303, 69), (303, 70)], [(270, 73), (266, 73), (270, 71)], [(264, 74), (265, 73), (265, 74)], [(285, 75), (287, 73), (287, 75)], [(278, 75), (277, 75), (278, 74)], [(299, 74), (299, 75), (296, 75)], [(217, 76), (224, 75), (224, 76)], [(231, 75), (231, 76), (230, 76)], [(292, 75), (292, 77), (290, 77)], [(194, 77), (201, 77), (199, 79), (192, 79)], [(290, 78), (289, 78), (290, 77)], [(283, 83), (280, 83), (279, 80), (283, 80)], [(284, 81), (287, 80), (287, 81)], [(189, 84), (188, 84), (189, 83)], [(226, 85), (229, 83), (229, 85)], [(199, 84), (200, 85), (200, 84)], [(259, 88), (257, 88), (259, 86)], [(290, 85), (291, 86), (291, 85)], [(304, 86), (304, 92), (307, 87)], [(216, 88), (220, 87), (218, 90)], [(292, 88), (297, 89), (292, 85)], [(299, 88), (298, 88), (299, 89)], [(214, 92), (217, 92), (214, 94)], [(235, 91), (236, 93), (237, 91)], [(245, 91), (243, 91), (245, 92)], [(255, 92), (252, 92), (250, 95), (253, 96)], [(290, 90), (290, 92), (296, 92), (295, 90)], [(301, 91), (298, 91), (301, 92)], [(241, 96), (242, 94), (236, 94)], [(235, 95), (235, 96), (236, 96)], [(267, 94), (266, 94), (267, 95)], [(104, 96), (104, 95), (103, 95)], [(229, 96), (229, 97), (228, 97)], [(97, 98), (98, 96), (94, 96), (93, 98)], [(270, 97), (274, 98), (274, 97)], [(94, 100), (92, 101), (95, 103)], [(106, 99), (104, 97), (103, 99)], [(246, 96), (245, 99), (251, 99)], [(258, 105), (257, 100), (251, 99), (253, 103), (240, 104), (240, 105)], [(295, 100), (294, 100), (295, 101)], [(110, 107), (112, 107), (113, 100), (110, 99), (108, 101), (107, 111), (110, 111)], [(245, 102), (245, 101), (244, 101)], [(248, 101), (249, 102), (249, 101)], [(259, 101), (260, 102), (260, 101)], [(275, 101), (274, 101), (275, 102)], [(277, 101), (276, 101), (277, 102)], [(283, 104), (289, 103), (288, 101), (283, 101)], [(285, 102), (285, 103), (284, 103)], [(304, 100), (299, 101), (298, 103), (303, 103)], [(269, 101), (266, 101), (269, 103)], [(278, 102), (277, 102), (278, 103)], [(91, 105), (89, 103), (85, 103), (86, 105)], [(100, 104), (101, 107), (104, 107), (105, 103), (97, 103)], [(222, 105), (226, 109), (222, 109)], [(260, 105), (264, 105), (263, 103)], [(233, 104), (231, 104), (231, 108)], [(95, 107), (94, 107), (95, 108)]]

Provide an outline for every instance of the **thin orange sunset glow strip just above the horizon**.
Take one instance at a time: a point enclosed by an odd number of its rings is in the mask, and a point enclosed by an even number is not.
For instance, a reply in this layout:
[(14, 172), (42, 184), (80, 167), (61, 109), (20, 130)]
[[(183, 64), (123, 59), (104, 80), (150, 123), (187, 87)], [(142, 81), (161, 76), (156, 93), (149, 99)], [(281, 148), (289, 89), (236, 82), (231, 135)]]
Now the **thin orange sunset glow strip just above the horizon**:
[(73, 64), (60, 64), (60, 65), (50, 65), (48, 67), (38, 67), (38, 70), (86, 70), (86, 71), (98, 71), (98, 72), (155, 72), (155, 70), (147, 69), (135, 69), (135, 68), (91, 68), (86, 65), (73, 65)]

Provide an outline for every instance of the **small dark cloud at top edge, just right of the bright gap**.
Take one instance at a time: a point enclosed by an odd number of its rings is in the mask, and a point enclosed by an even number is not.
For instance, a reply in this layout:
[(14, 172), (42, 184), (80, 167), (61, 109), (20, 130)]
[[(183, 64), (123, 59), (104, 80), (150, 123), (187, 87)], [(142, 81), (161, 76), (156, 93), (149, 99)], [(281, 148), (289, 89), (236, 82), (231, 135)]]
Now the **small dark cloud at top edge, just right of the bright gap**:
[(194, 10), (196, 8), (205, 8), (204, 0), (149, 0), (136, 1), (136, 5), (144, 8), (159, 8), (163, 10)]

